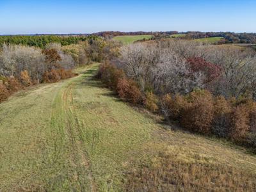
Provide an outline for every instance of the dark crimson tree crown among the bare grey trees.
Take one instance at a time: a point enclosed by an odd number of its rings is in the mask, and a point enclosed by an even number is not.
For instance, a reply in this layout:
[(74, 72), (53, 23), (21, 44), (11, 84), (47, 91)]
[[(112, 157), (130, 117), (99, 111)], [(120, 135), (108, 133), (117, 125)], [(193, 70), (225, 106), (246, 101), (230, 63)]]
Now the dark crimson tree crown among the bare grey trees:
[(203, 58), (188, 58), (192, 72), (204, 72), (205, 83), (209, 83), (221, 75), (221, 67), (205, 61)]

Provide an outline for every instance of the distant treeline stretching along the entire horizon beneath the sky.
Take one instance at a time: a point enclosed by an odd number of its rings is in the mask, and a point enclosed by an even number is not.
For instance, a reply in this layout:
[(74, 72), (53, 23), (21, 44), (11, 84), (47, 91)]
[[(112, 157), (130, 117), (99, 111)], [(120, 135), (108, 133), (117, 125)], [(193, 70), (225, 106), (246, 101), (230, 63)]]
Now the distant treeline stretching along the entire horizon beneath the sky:
[(160, 32), (120, 32), (120, 31), (103, 31), (99, 33), (93, 33), (89, 36), (84, 35), (10, 35), (0, 36), (0, 45), (15, 44), (15, 45), (29, 45), (45, 48), (45, 45), (49, 43), (59, 43), (63, 46), (77, 44), (78, 42), (85, 42), (88, 40), (95, 40), (102, 36), (104, 38), (111, 38), (119, 35), (154, 35), (153, 38), (168, 38), (169, 35), (184, 34), (179, 38), (184, 39), (198, 39), (208, 37), (223, 37), (220, 44), (256, 44), (256, 33), (232, 33), (232, 32), (200, 32), (200, 31), (188, 31), (186, 33), (179, 33), (178, 31), (160, 31)]

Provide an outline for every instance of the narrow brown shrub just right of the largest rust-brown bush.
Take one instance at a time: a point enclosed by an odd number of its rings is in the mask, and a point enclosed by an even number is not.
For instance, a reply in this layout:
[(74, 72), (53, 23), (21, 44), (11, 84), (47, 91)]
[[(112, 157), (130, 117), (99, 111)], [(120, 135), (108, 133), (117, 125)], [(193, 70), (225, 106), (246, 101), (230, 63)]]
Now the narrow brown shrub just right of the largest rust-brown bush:
[(223, 96), (214, 99), (214, 119), (212, 120), (212, 133), (220, 137), (228, 135), (227, 116), (232, 108)]

